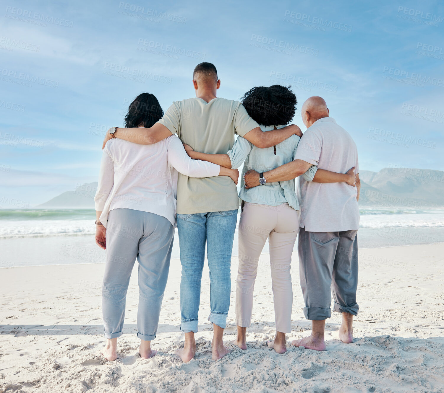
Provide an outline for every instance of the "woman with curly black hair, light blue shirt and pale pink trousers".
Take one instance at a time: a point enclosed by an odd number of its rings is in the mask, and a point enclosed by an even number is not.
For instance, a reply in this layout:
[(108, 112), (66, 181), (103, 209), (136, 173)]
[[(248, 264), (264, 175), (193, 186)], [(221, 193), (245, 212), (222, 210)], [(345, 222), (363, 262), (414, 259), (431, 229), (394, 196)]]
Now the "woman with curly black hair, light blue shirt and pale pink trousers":
[[(296, 111), (296, 95), (289, 87), (274, 85), (254, 87), (242, 97), (248, 114), (261, 126), (262, 131), (280, 129), (288, 124)], [(227, 168), (238, 168), (244, 162), (243, 175), (250, 169), (262, 173), (294, 160), (301, 138), (293, 135), (274, 147), (259, 149), (238, 137), (228, 154), (204, 154), (185, 146), (191, 158), (216, 163)], [(355, 175), (334, 173), (310, 167), (302, 175), (307, 181), (352, 185)], [(268, 239), (270, 245), (271, 282), (274, 298), (276, 336), (268, 345), (277, 353), (286, 351), (285, 333), (291, 332), (293, 290), (290, 275), (291, 254), (299, 231), (299, 201), (293, 180), (265, 183), (246, 189), (241, 178), (241, 218), (239, 221), (239, 267), (236, 286), (236, 345), (246, 350), (246, 328), (250, 327), (253, 312), (254, 281), (258, 261)]]

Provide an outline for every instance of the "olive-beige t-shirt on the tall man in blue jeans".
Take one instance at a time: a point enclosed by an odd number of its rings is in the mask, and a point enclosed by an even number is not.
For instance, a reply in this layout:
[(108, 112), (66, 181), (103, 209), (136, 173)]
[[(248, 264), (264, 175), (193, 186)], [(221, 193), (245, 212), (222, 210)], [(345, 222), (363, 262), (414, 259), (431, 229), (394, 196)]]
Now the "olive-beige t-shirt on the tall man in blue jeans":
[[(159, 120), (195, 151), (226, 154), (234, 145), (234, 134), (244, 136), (258, 127), (238, 101), (202, 98), (175, 101)], [(228, 176), (195, 178), (179, 173), (178, 214), (223, 212), (238, 209), (238, 191)]]

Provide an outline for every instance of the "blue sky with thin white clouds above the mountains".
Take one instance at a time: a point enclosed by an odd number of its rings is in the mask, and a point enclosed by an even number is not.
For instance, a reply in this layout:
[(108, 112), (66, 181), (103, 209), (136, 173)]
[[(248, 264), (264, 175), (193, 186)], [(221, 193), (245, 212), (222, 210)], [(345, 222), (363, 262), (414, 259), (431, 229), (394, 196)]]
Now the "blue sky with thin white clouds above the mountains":
[[(0, 202), (34, 206), (95, 181), (129, 103), (291, 85), (353, 136), (361, 169), (444, 170), (444, 6), (438, 1), (5, 1), (0, 8)], [(3, 199), (2, 199), (3, 198)], [(11, 200), (13, 202), (8, 202)], [(5, 202), (6, 201), (6, 202)]]

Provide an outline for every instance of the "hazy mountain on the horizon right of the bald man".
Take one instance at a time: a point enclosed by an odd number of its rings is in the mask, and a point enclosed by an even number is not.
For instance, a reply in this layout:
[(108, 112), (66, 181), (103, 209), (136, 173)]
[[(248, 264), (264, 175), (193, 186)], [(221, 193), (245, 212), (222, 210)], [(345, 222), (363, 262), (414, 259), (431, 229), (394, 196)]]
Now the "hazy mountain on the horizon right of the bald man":
[(361, 205), (421, 208), (444, 206), (444, 172), (384, 168), (361, 171)]

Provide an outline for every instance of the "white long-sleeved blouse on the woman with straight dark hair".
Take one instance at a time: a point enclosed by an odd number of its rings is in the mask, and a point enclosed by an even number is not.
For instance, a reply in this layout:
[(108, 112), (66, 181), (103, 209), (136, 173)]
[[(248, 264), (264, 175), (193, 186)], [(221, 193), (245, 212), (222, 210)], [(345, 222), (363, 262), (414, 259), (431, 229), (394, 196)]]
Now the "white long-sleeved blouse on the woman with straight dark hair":
[(220, 166), (192, 160), (176, 135), (154, 145), (113, 138), (103, 149), (95, 210), (106, 227), (112, 209), (133, 209), (165, 217), (176, 226), (178, 172), (189, 177), (218, 176)]

